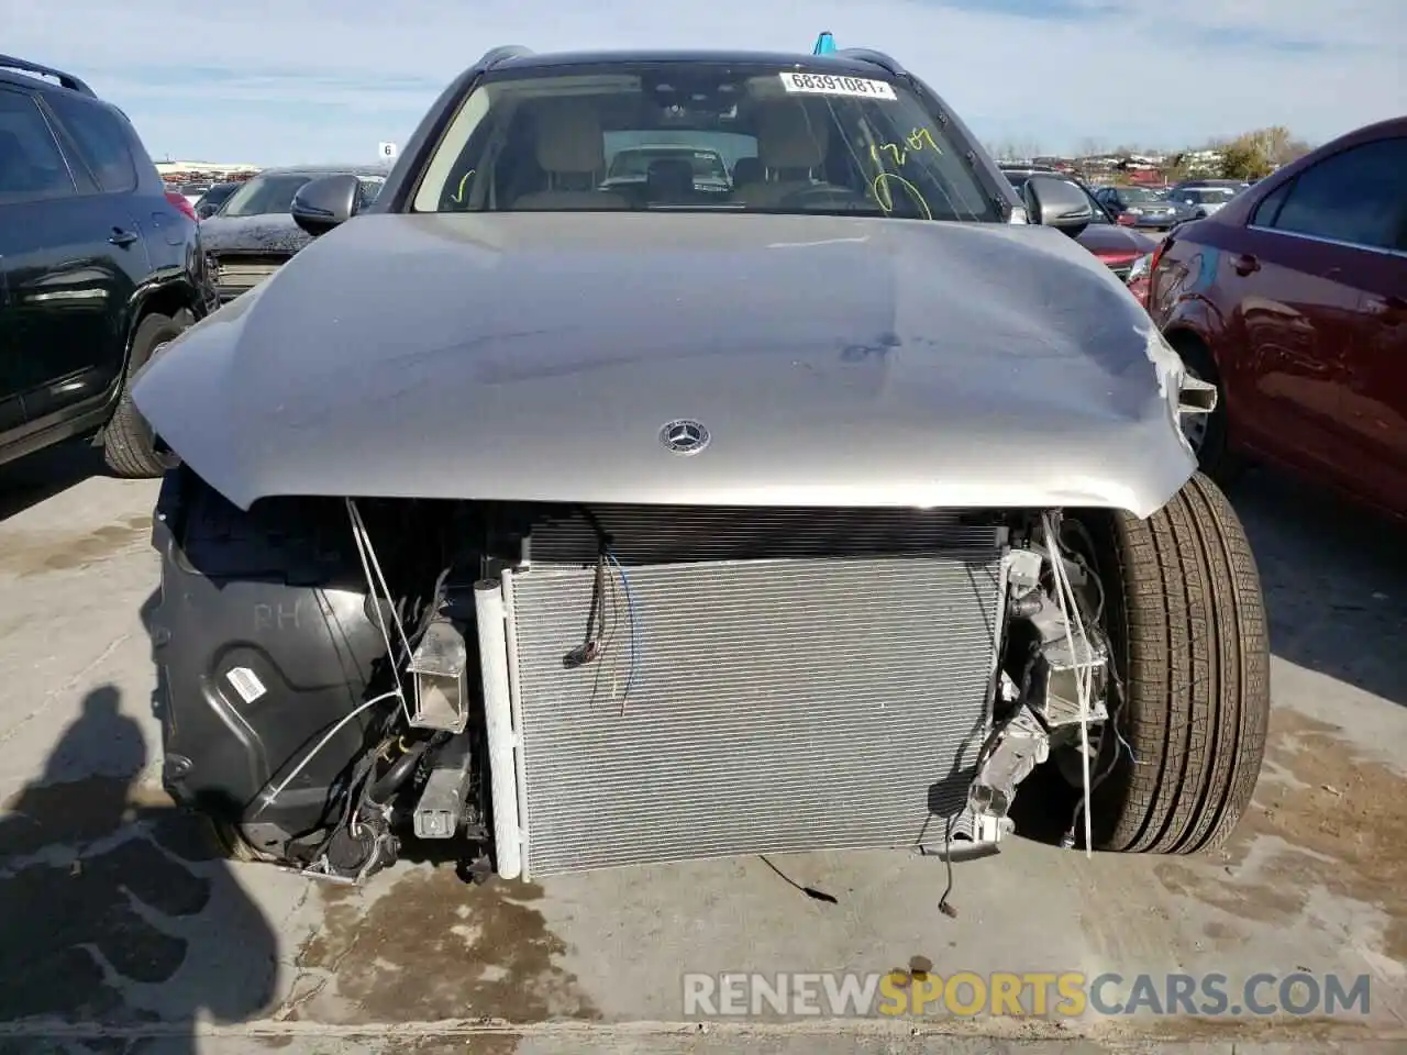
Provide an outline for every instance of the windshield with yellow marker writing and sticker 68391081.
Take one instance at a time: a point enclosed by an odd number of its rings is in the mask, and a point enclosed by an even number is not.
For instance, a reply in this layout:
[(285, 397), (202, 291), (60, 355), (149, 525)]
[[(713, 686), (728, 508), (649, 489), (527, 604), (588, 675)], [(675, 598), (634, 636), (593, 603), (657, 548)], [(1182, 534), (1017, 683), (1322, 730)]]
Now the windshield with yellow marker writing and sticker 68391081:
[(709, 62), (499, 70), (464, 100), (412, 207), (1000, 222), (971, 149), (889, 80)]

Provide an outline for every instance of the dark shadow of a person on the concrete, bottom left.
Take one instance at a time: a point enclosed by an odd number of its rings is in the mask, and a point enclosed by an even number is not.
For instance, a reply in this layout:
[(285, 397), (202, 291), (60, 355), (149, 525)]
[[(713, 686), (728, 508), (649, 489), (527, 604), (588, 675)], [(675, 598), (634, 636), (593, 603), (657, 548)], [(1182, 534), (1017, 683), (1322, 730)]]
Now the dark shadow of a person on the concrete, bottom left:
[(273, 928), (204, 823), (142, 786), (120, 702), (93, 689), (44, 774), (0, 803), (0, 1055), (194, 1052), (198, 1018), (272, 1000)]

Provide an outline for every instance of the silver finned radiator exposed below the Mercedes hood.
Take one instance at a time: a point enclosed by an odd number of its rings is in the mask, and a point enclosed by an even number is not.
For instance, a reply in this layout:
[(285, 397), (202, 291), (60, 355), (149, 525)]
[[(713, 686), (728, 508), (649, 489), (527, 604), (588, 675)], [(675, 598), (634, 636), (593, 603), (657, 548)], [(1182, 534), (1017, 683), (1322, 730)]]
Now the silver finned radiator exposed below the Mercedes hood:
[(986, 731), (1002, 551), (910, 511), (601, 508), (504, 575), (523, 869), (943, 843)]

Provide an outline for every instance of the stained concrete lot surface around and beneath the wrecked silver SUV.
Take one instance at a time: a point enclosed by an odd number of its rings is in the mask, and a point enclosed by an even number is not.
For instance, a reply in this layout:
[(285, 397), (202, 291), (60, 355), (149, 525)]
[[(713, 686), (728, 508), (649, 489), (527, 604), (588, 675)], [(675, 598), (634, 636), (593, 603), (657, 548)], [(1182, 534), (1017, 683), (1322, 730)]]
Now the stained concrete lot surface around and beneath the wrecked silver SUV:
[[(227, 862), (163, 799), (141, 622), (155, 485), (94, 463), (0, 468), (0, 1052), (1407, 1049), (1400, 532), (1259, 475), (1234, 492), (1276, 706), (1255, 806), (1216, 857), (1085, 859), (1030, 792), (1027, 837), (957, 867), (953, 919), (941, 862), (905, 854), (778, 862), (834, 903), (751, 858), (484, 888), (402, 864), (348, 890)], [(1337, 973), (1368, 976), (1370, 1006), (701, 1021), (682, 1000), (684, 972), (895, 969), (1220, 972), (1233, 993)]]

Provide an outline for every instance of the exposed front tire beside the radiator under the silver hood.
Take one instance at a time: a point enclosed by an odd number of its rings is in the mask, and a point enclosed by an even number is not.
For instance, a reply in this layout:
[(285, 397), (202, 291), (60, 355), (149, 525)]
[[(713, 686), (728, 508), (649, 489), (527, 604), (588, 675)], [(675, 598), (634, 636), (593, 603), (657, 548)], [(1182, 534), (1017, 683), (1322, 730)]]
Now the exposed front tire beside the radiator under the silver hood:
[(1100, 525), (1106, 625), (1123, 682), (1119, 750), (1093, 796), (1100, 850), (1221, 847), (1255, 792), (1271, 708), (1265, 602), (1249, 542), (1221, 490), (1195, 474), (1140, 520)]

